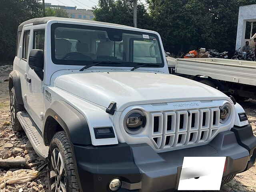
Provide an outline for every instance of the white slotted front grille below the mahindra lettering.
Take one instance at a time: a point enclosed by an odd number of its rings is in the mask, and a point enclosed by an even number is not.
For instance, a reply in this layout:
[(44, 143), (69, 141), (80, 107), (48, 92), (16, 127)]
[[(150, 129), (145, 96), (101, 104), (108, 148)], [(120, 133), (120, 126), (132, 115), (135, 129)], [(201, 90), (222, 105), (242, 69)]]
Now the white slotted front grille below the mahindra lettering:
[(169, 149), (211, 140), (218, 131), (219, 108), (152, 112), (151, 140), (156, 149)]

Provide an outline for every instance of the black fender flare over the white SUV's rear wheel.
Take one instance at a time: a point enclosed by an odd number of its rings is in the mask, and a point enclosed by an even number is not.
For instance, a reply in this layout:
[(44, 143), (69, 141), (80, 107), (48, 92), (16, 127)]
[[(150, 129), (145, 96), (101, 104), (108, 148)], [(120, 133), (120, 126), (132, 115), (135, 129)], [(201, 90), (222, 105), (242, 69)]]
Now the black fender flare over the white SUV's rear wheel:
[(24, 105), (23, 99), (22, 99), (21, 84), (20, 84), (20, 74), (16, 70), (13, 70), (9, 74), (9, 92), (11, 92), (12, 87), (14, 87), (15, 96), (18, 104)]

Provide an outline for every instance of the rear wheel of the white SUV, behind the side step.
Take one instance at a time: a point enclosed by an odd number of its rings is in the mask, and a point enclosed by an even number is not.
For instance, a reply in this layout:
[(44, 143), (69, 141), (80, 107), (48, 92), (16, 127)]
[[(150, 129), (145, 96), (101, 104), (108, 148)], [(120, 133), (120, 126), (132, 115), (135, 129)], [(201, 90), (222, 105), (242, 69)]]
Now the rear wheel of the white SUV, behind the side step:
[(23, 106), (19, 105), (16, 100), (15, 90), (12, 87), (10, 92), (10, 112), (11, 112), (11, 123), (12, 123), (12, 130), (14, 131), (22, 131), (23, 128), (20, 125), (20, 122), (16, 116), (17, 112), (22, 111)]

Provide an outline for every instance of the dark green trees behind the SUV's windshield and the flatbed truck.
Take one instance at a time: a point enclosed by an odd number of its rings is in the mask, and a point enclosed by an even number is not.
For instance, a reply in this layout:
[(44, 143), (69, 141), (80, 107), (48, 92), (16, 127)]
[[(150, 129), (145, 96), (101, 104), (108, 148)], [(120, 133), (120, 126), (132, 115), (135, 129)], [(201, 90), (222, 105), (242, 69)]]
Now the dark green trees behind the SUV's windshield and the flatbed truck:
[[(138, 5), (138, 28), (160, 33), (166, 51), (197, 47), (234, 52), (239, 6), (256, 0), (147, 0)], [(95, 20), (133, 26), (132, 0), (99, 0)]]

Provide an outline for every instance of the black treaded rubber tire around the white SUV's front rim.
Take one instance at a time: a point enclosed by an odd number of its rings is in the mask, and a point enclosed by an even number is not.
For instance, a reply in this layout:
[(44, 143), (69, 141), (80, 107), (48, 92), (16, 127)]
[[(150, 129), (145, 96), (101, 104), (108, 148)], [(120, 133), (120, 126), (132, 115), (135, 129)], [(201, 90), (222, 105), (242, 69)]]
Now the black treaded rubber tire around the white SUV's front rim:
[[(63, 159), (65, 175), (60, 176), (60, 179), (65, 177), (66, 192), (79, 192), (79, 185), (77, 182), (77, 176), (74, 168), (74, 158), (71, 150), (71, 144), (64, 131), (57, 132), (50, 143), (48, 154), (48, 189), (49, 192), (55, 192), (55, 188), (52, 189), (53, 181), (55, 177), (50, 178), (50, 172), (53, 169), (52, 154), (53, 151), (58, 150), (61, 158)], [(56, 154), (56, 153), (55, 153)], [(58, 161), (58, 160), (57, 160)], [(59, 162), (57, 162), (59, 164)], [(60, 172), (60, 171), (59, 171)], [(58, 176), (56, 176), (57, 178)], [(55, 183), (55, 182), (54, 182)], [(56, 186), (56, 183), (55, 183)], [(58, 190), (57, 190), (58, 191)], [(63, 190), (62, 190), (63, 191)]]

